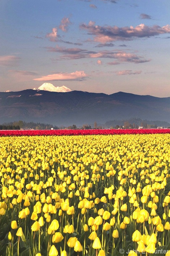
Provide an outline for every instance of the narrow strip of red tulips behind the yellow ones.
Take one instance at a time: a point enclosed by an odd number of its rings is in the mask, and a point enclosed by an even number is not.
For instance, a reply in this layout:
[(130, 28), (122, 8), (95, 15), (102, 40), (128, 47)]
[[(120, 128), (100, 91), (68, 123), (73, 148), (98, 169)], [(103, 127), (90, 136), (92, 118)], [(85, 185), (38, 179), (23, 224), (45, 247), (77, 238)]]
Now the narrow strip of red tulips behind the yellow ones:
[(94, 130), (0, 130), (1, 136), (107, 135), (170, 133), (170, 129), (94, 129)]

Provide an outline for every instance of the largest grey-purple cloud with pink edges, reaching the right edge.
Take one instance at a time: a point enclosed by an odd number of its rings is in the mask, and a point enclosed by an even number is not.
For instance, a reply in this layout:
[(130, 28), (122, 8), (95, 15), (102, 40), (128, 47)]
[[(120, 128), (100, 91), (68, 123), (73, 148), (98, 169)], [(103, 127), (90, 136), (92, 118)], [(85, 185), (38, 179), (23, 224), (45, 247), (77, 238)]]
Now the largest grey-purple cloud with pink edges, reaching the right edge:
[(136, 27), (117, 27), (117, 26), (97, 26), (94, 21), (90, 21), (88, 25), (81, 24), (81, 29), (88, 31), (89, 35), (94, 36), (95, 42), (107, 43), (112, 41), (128, 41), (135, 38), (150, 37), (160, 34), (170, 33), (170, 25), (160, 27), (154, 25), (152, 27), (140, 24)]

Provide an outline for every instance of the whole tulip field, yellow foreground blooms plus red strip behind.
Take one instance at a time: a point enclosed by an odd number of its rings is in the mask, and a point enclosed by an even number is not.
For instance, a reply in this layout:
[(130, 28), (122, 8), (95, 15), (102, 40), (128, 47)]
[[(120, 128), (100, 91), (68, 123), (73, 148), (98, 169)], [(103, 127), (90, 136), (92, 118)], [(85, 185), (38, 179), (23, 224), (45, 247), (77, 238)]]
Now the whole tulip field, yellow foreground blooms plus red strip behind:
[(0, 256), (170, 256), (156, 130), (0, 131)]

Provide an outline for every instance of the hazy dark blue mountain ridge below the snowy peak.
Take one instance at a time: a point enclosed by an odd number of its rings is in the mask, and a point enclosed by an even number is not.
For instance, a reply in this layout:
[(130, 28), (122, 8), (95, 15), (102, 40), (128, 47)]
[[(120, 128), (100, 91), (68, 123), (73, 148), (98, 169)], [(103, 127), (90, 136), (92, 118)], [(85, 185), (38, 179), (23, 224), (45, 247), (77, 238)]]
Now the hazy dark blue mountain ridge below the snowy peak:
[(132, 118), (170, 122), (170, 97), (124, 92), (111, 95), (82, 91), (63, 93), (39, 89), (0, 92), (0, 123), (22, 120), (82, 126), (95, 121), (104, 124), (110, 120)]

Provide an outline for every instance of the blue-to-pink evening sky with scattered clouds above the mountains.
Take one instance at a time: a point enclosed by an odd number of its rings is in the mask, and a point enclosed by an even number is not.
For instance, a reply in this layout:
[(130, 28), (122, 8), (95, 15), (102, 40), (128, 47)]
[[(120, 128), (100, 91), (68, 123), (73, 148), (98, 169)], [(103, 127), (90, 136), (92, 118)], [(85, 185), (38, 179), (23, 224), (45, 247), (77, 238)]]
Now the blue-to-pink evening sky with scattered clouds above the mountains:
[(170, 97), (169, 0), (0, 0), (0, 91)]

